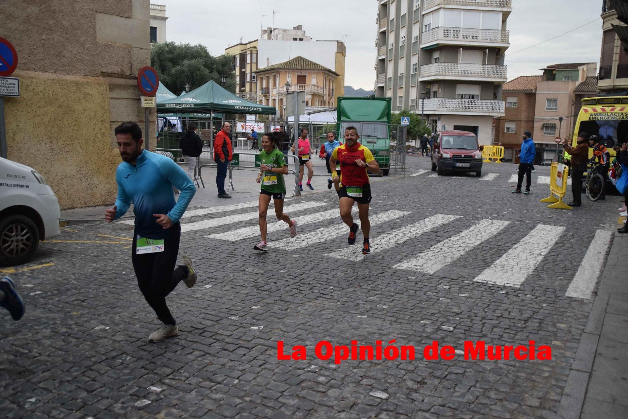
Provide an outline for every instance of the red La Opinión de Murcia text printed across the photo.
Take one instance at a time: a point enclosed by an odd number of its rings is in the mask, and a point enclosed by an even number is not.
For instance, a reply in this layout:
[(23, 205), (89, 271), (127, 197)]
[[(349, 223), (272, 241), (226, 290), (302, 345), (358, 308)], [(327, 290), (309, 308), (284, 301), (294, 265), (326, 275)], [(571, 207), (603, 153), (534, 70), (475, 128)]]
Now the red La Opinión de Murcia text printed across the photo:
[[(416, 349), (411, 345), (396, 345), (396, 339), (382, 343), (376, 340), (375, 345), (359, 345), (357, 340), (352, 340), (349, 346), (334, 345), (327, 340), (321, 340), (314, 347), (314, 355), (322, 361), (333, 359), (335, 364), (340, 364), (347, 360), (381, 360), (387, 359), (394, 361), (401, 359), (403, 361), (413, 361), (416, 359)], [(462, 354), (453, 346), (440, 346), (437, 340), (433, 340), (431, 344), (423, 348), (423, 359), (428, 361), (436, 361), (444, 359), (451, 361), (457, 356), (462, 356), (465, 360), (477, 361), (496, 361), (498, 359), (516, 359), (517, 361), (544, 361), (551, 359), (551, 347), (548, 345), (536, 346), (534, 340), (528, 341), (525, 345), (487, 345), (484, 340), (465, 340), (463, 343)], [(419, 355), (421, 356), (421, 354)], [(277, 342), (277, 359), (280, 361), (299, 360), (306, 361), (308, 352), (305, 346), (296, 345), (291, 349), (284, 347), (283, 340)]]

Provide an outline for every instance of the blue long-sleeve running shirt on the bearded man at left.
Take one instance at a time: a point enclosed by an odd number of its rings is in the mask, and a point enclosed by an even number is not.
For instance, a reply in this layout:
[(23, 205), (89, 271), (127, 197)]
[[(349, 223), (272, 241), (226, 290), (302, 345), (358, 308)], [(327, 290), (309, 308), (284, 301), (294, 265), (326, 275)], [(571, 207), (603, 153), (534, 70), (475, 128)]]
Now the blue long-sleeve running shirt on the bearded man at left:
[[(126, 214), (133, 201), (135, 232), (138, 236), (163, 239), (180, 233), (178, 222), (196, 193), (196, 188), (174, 161), (144, 150), (135, 165), (126, 161), (118, 165), (116, 182), (116, 219)], [(181, 191), (176, 202), (173, 186)], [(168, 215), (173, 226), (164, 230), (157, 224), (157, 217), (153, 214)]]

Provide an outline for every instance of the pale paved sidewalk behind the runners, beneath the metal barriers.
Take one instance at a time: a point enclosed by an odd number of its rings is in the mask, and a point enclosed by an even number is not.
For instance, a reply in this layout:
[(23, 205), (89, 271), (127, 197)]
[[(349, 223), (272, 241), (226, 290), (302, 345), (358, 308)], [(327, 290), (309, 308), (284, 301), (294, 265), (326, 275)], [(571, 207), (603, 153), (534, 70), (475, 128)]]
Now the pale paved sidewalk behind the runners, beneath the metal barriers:
[[(181, 167), (184, 170), (187, 170), (185, 165), (181, 165)], [(305, 183), (307, 182), (307, 171), (305, 172), (305, 175), (303, 176), (303, 191), (301, 191), (301, 196), (308, 195), (308, 193), (335, 193), (333, 187), (331, 191), (327, 189), (328, 173), (324, 173), (323, 175), (323, 170), (317, 169), (318, 168), (315, 168), (315, 175), (311, 182), (314, 190), (310, 190), (306, 187)], [(414, 173), (414, 170), (406, 171), (406, 176), (411, 173)], [(227, 190), (227, 193), (231, 195), (230, 199), (220, 199), (216, 188), (216, 169), (204, 167), (202, 170), (202, 178), (205, 183), (205, 187), (203, 188), (203, 184), (200, 181), (198, 182), (200, 187), (197, 188), (197, 192), (195, 193), (192, 202), (190, 202), (190, 207), (219, 207), (222, 205), (233, 205), (257, 200), (259, 197), (259, 183), (255, 182), (256, 176), (256, 170), (234, 170), (233, 184), (236, 189)], [(403, 177), (403, 175), (393, 175), (393, 173), (391, 173), (386, 177), (371, 177), (371, 182), (382, 182), (384, 180), (395, 179), (398, 177)], [(286, 199), (291, 199), (294, 189), (294, 175), (286, 175), (284, 176), (284, 179), (286, 181)], [(225, 182), (225, 188), (227, 188), (227, 182)], [(111, 205), (62, 210), (61, 225), (68, 226), (83, 222), (104, 220), (105, 210), (107, 208), (111, 208), (112, 205), (113, 202)], [(133, 205), (131, 205), (122, 218), (126, 219), (133, 217)]]

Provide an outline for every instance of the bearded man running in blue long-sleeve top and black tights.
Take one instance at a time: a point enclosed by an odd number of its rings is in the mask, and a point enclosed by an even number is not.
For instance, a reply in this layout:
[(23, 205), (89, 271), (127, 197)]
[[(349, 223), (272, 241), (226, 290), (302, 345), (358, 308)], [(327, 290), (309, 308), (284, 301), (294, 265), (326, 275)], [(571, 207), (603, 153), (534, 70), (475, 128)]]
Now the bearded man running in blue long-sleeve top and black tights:
[[(170, 158), (142, 150), (142, 130), (138, 124), (124, 122), (115, 132), (124, 161), (116, 170), (116, 204), (105, 211), (105, 220), (119, 219), (133, 202), (135, 232), (131, 260), (139, 290), (162, 322), (148, 340), (161, 342), (178, 333), (166, 305), (166, 296), (181, 280), (188, 288), (197, 281), (190, 258), (181, 258), (183, 264), (175, 269), (181, 237), (179, 220), (196, 188), (185, 171)], [(177, 202), (173, 186), (181, 191)]]

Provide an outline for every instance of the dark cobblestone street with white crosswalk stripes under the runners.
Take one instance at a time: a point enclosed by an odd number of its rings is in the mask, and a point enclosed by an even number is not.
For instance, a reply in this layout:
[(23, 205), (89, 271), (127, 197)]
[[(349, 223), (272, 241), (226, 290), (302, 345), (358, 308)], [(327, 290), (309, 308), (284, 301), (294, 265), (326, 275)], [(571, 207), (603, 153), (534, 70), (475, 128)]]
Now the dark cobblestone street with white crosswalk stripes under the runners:
[[(549, 166), (537, 167), (526, 196), (511, 193), (515, 165), (485, 163), (477, 178), (408, 160), (413, 176), (373, 184), (365, 257), (361, 231), (347, 245), (325, 186), (286, 199), (295, 239), (269, 210), (265, 254), (252, 250), (256, 201), (190, 207), (179, 255), (199, 280), (167, 298), (180, 333), (157, 344), (148, 335), (159, 322), (131, 264), (133, 226), (64, 227), (34, 261), (0, 270), (26, 303), (21, 321), (2, 315), (3, 416), (557, 417), (595, 296), (597, 276), (579, 271), (603, 267), (619, 196), (548, 209), (539, 199), (549, 196)], [(590, 249), (601, 256), (587, 261)], [(306, 346), (307, 359), (279, 360), (279, 340), (286, 352)], [(338, 365), (317, 359), (321, 340), (396, 340), (416, 347), (416, 359)], [(455, 359), (423, 359), (434, 340), (455, 347)], [(552, 357), (465, 360), (465, 340), (534, 340)]]

